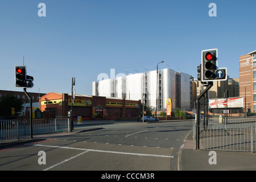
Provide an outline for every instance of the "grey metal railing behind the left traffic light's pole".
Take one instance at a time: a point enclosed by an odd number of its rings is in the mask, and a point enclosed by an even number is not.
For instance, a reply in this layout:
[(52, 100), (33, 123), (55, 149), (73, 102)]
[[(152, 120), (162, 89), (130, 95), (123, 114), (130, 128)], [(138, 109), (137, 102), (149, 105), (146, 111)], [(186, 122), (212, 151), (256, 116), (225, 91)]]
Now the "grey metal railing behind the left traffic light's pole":
[[(30, 134), (30, 120), (1, 120), (0, 142), (19, 139), (19, 136)], [(33, 119), (32, 133), (50, 133), (58, 131), (70, 131), (69, 118)]]

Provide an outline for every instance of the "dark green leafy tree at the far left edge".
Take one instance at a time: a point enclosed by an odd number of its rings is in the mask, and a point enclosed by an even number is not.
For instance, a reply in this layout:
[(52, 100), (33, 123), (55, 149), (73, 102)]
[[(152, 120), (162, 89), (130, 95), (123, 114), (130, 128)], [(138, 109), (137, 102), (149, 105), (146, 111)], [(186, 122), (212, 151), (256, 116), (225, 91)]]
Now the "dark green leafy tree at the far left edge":
[(16, 112), (20, 112), (23, 109), (23, 100), (16, 98), (14, 95), (7, 94), (0, 98), (0, 115), (3, 117), (11, 116), (11, 108), (15, 108)]

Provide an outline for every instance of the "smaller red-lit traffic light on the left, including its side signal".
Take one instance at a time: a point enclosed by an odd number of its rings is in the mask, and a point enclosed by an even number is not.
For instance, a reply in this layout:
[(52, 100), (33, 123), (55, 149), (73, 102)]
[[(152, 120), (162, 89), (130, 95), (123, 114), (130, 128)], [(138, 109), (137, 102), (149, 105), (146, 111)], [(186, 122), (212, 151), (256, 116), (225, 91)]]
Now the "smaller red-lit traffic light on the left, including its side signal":
[(15, 66), (15, 86), (32, 88), (34, 78), (27, 75), (26, 66)]

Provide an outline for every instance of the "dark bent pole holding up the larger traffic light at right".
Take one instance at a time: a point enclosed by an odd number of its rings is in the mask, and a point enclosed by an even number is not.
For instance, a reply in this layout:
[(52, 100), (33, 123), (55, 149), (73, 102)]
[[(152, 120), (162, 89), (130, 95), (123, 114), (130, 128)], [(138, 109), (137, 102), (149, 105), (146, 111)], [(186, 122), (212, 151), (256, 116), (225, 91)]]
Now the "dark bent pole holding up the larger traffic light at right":
[(197, 106), (196, 106), (196, 149), (199, 149), (199, 135), (200, 135), (200, 98), (212, 88), (213, 82), (209, 81), (207, 88), (197, 97)]

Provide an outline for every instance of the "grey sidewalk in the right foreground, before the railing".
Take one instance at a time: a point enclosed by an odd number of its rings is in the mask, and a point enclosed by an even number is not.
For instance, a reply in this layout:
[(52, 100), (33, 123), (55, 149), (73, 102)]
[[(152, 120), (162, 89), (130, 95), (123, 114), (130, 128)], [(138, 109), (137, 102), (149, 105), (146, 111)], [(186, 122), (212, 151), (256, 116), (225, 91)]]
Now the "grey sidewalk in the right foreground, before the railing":
[[(256, 170), (255, 152), (215, 151), (216, 155), (213, 155), (209, 150), (193, 150), (192, 134), (187, 135), (180, 148), (179, 171)], [(216, 164), (213, 164), (214, 156)]]

